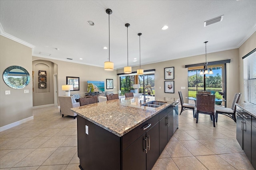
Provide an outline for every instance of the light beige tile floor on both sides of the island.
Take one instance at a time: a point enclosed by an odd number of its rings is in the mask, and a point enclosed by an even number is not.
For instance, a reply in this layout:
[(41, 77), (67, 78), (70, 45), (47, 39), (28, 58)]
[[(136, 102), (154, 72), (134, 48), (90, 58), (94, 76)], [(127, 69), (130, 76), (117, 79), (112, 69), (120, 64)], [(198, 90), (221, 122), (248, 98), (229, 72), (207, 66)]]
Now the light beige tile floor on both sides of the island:
[[(179, 108), (180, 109), (180, 108)], [(1, 170), (79, 170), (76, 119), (57, 107), (33, 109), (34, 120), (0, 132)], [(179, 115), (179, 129), (153, 170), (254, 170), (236, 141), (236, 123), (192, 111)]]

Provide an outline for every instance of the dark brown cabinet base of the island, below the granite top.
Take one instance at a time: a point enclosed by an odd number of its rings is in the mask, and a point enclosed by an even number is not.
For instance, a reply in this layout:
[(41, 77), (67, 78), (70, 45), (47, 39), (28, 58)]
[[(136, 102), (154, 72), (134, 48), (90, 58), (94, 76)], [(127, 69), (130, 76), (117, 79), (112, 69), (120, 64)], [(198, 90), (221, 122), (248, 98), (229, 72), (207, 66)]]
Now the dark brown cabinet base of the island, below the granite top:
[[(90, 127), (89, 135), (86, 126)], [(81, 170), (151, 170), (178, 128), (178, 102), (121, 137), (77, 117)]]

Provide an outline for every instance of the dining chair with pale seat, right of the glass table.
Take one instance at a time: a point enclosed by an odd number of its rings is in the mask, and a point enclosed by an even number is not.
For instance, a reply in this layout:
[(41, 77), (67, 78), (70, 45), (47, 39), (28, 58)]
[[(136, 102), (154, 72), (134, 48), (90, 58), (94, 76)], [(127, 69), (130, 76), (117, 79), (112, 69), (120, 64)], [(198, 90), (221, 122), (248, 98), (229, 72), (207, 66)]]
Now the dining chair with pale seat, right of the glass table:
[(218, 121), (218, 114), (226, 115), (236, 122), (236, 103), (240, 102), (242, 94), (236, 93), (233, 98), (231, 108), (215, 106), (216, 110), (216, 122)]

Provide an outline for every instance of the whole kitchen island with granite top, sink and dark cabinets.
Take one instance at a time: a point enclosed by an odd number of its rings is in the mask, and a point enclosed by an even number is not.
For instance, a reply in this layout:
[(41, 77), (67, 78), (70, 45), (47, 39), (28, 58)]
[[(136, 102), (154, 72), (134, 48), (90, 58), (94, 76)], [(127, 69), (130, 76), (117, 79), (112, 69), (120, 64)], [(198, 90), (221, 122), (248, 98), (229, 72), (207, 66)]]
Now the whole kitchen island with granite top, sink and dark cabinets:
[(149, 170), (154, 166), (178, 128), (178, 99), (149, 98), (162, 105), (141, 106), (143, 96), (136, 96), (72, 108), (78, 115), (80, 169)]

